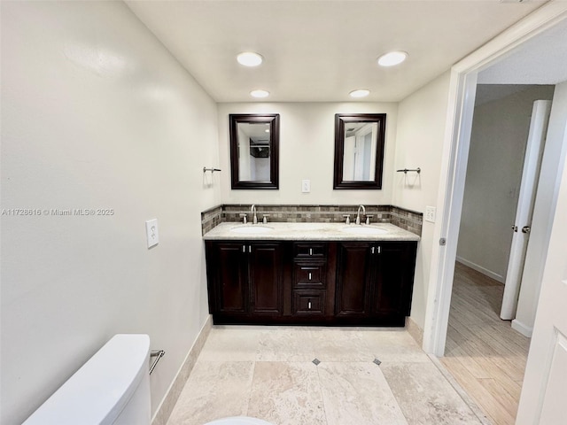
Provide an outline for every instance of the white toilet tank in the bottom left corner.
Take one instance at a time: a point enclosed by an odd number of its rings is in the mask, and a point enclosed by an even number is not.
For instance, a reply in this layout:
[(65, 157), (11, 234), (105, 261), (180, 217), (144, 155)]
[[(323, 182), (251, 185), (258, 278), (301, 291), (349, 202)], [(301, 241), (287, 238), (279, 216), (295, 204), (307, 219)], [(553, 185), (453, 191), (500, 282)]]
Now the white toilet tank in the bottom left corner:
[(23, 425), (149, 425), (150, 336), (113, 336)]

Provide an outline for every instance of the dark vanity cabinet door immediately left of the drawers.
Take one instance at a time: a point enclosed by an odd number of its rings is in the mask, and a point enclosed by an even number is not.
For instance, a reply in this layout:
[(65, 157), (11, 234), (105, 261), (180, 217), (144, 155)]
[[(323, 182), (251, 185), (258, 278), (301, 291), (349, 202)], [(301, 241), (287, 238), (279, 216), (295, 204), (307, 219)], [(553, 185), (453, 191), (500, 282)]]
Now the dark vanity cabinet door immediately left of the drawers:
[(281, 314), (283, 310), (282, 245), (250, 243), (249, 247), (252, 313)]

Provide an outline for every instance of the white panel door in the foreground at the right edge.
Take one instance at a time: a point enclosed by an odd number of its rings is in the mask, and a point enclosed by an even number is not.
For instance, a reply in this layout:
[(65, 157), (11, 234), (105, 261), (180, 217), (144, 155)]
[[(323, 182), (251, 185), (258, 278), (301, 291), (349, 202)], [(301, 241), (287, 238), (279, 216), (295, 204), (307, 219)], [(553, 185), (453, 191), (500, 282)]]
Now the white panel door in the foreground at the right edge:
[[(567, 131), (563, 135), (567, 149)], [(567, 423), (567, 166), (559, 184), (517, 425)]]

